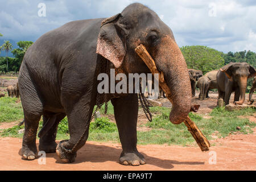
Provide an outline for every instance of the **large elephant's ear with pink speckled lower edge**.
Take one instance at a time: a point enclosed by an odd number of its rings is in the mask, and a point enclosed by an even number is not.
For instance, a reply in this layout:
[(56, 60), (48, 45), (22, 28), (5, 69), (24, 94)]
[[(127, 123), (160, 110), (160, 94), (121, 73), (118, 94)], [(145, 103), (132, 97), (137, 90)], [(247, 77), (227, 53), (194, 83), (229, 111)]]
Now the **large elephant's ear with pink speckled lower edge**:
[(121, 14), (104, 19), (98, 35), (96, 53), (111, 61), (115, 68), (120, 67), (126, 55), (126, 49), (119, 34), (119, 24), (116, 23)]

